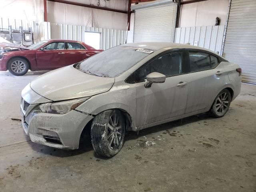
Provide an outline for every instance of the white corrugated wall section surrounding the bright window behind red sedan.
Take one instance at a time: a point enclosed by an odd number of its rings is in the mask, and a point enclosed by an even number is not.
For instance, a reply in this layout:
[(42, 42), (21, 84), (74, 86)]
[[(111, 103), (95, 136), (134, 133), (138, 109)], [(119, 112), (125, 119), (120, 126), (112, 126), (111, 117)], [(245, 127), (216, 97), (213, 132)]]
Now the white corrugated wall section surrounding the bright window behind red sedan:
[[(49, 23), (49, 22), (48, 22)], [(50, 23), (50, 38), (84, 41), (84, 32), (100, 32), (101, 49), (109, 49), (124, 44), (126, 40), (125, 30), (95, 28), (86, 26), (53, 24)]]

